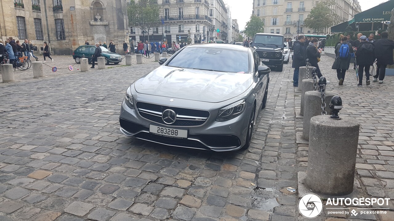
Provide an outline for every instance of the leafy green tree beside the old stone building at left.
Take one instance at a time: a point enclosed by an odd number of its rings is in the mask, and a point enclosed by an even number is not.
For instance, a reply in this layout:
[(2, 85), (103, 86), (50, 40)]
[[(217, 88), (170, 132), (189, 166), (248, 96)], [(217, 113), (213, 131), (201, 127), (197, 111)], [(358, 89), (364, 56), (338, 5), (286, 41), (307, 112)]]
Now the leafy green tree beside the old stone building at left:
[(147, 32), (160, 24), (160, 8), (154, 0), (130, 0), (127, 6), (128, 24)]

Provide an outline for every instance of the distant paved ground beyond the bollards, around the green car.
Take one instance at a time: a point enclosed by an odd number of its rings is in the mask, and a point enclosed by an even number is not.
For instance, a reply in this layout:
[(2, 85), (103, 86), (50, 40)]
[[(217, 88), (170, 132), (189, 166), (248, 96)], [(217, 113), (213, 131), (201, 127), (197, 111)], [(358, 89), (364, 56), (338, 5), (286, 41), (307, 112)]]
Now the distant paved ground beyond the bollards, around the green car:
[[(39, 61), (44, 61), (42, 55), (37, 56)], [(54, 78), (61, 77), (65, 75), (73, 75), (73, 74), (81, 74), (80, 73), (80, 64), (75, 63), (74, 59), (72, 59), (72, 55), (51, 55), (54, 59), (54, 62), (51, 62), (50, 59), (46, 59), (46, 63), (43, 63), (44, 74), (46, 78)], [(122, 55), (125, 57), (125, 55)], [(33, 58), (32, 62), (35, 61)], [(143, 63), (151, 63), (154, 62), (154, 56), (151, 56), (150, 59), (146, 59), (145, 57), (142, 59)], [(132, 64), (136, 65), (136, 55), (132, 55)], [(69, 65), (72, 65), (74, 70), (69, 70)], [(123, 59), (119, 64), (110, 63), (106, 65), (106, 68), (113, 68), (126, 65), (126, 59)], [(52, 72), (52, 67), (58, 68), (56, 72)], [(90, 67), (90, 64), (89, 64)], [(95, 66), (97, 69), (97, 65)], [(89, 69), (90, 70), (90, 69)], [(98, 70), (96, 70), (98, 71)], [(99, 70), (101, 71), (101, 70)], [(27, 70), (15, 70), (14, 71), (15, 81), (41, 81), (42, 79), (33, 79), (33, 68), (29, 68)], [(0, 74), (0, 82), (2, 82), (2, 76)], [(0, 87), (9, 86), (7, 83), (1, 83)]]

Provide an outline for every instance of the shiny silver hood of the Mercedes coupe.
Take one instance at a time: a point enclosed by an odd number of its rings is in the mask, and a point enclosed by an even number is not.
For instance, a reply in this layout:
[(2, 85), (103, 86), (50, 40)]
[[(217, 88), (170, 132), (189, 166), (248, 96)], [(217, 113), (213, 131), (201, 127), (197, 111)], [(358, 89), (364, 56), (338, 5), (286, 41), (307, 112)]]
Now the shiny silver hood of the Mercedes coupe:
[(134, 87), (141, 94), (217, 103), (242, 94), (252, 83), (252, 74), (163, 65), (138, 79)]

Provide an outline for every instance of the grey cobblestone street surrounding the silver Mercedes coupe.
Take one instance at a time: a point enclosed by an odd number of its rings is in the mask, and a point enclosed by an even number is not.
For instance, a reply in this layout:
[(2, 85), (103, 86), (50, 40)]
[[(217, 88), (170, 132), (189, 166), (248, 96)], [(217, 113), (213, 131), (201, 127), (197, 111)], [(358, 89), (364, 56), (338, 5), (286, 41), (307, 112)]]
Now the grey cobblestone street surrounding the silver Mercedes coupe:
[[(394, 78), (358, 88), (348, 75), (338, 86), (332, 62), (327, 56), (321, 62), (331, 81), (327, 90), (342, 97), (341, 116), (362, 125), (361, 188), (394, 198)], [(146, 62), (1, 87), (0, 220), (307, 220), (297, 210), (297, 193), (286, 190), (297, 189), (297, 172), (306, 170), (308, 153), (306, 145), (296, 144), (302, 118), (295, 116), (299, 93), (292, 87), (291, 63), (270, 74), (267, 107), (251, 147), (220, 154), (119, 132), (125, 89), (157, 66)], [(352, 218), (325, 212), (313, 220)], [(360, 218), (393, 216), (388, 211)]]

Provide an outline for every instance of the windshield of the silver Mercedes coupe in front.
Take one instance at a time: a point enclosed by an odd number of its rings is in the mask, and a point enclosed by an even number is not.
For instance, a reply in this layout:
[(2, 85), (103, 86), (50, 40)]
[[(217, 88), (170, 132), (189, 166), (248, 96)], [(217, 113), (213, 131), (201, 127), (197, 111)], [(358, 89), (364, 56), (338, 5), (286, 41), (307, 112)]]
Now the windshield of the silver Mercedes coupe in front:
[(222, 48), (186, 47), (167, 66), (249, 73), (249, 55), (247, 52)]

